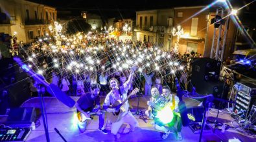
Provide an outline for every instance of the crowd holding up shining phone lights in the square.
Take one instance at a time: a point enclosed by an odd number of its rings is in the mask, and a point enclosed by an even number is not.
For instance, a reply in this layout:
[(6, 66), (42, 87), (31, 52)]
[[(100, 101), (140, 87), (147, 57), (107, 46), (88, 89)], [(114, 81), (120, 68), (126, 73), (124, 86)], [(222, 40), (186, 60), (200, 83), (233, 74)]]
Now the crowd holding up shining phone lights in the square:
[[(175, 89), (174, 77), (187, 88), (191, 59), (202, 55), (164, 52), (161, 47), (143, 41), (117, 41), (106, 34), (89, 32), (38, 38), (29, 46), (19, 46), (19, 56), (47, 81), (57, 85), (70, 96), (89, 92), (89, 86), (99, 83), (101, 95), (109, 91), (108, 81), (115, 77), (122, 85), (128, 77), (128, 68), (137, 65), (133, 87), (150, 95), (152, 86), (159, 92), (167, 85)], [(36, 89), (31, 80), (33, 96)], [(132, 88), (130, 90), (132, 90)]]

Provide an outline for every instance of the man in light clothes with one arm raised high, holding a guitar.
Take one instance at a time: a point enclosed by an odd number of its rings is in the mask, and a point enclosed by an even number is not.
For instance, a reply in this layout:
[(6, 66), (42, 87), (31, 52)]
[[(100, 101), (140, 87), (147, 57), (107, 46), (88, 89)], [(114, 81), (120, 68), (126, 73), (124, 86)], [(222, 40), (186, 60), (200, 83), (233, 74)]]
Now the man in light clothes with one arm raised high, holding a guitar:
[[(110, 92), (106, 96), (106, 99), (104, 101), (103, 108), (106, 109), (110, 107), (110, 105), (115, 104), (117, 101), (123, 101), (127, 97), (127, 92), (130, 89), (132, 85), (132, 79), (134, 77), (134, 72), (137, 69), (136, 66), (133, 66), (130, 70), (130, 75), (121, 86), (119, 86), (119, 82), (115, 78), (111, 78), (109, 81), (110, 85)], [(114, 107), (114, 106), (112, 106)], [(139, 123), (135, 119), (135, 117), (132, 115), (132, 112), (129, 110), (129, 103), (126, 101), (122, 107), (121, 112), (119, 113), (119, 116), (117, 118), (117, 121), (115, 123), (112, 123), (111, 125), (111, 134), (115, 135), (116, 139), (120, 138), (120, 134), (117, 134), (119, 131), (119, 128), (121, 128), (123, 123), (128, 123), (130, 125), (130, 130), (133, 132), (135, 127), (138, 127)]]

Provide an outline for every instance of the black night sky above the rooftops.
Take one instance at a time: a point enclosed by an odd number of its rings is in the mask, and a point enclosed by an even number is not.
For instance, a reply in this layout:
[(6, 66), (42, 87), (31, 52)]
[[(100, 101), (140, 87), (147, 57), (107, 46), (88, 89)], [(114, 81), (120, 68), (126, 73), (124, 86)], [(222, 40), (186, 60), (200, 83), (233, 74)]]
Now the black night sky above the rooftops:
[[(175, 6), (201, 6), (208, 5), (215, 0), (30, 0), (44, 5), (54, 6), (58, 12), (69, 10), (73, 15), (80, 15), (81, 11), (99, 14), (102, 19), (111, 17), (135, 18), (135, 12), (139, 10), (172, 8)], [(229, 0), (234, 8), (240, 8), (246, 3), (255, 0)], [(256, 16), (256, 1), (246, 6), (239, 12), (242, 17)]]

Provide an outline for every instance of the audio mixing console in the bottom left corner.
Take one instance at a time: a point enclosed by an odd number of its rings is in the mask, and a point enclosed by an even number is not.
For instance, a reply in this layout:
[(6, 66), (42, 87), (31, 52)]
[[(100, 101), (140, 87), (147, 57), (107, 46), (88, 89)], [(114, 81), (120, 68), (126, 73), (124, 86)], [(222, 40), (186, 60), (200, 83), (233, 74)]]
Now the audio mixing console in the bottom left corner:
[(0, 128), (0, 141), (25, 141), (30, 128)]

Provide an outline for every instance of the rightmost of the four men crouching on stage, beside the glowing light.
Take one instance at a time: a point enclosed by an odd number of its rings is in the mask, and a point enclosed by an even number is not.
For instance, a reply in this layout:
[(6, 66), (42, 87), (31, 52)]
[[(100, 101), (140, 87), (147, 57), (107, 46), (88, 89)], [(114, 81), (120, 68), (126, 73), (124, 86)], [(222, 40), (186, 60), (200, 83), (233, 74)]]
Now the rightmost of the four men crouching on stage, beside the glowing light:
[(173, 110), (173, 119), (170, 123), (167, 123), (167, 128), (165, 127), (165, 124), (163, 124), (159, 119), (155, 118), (155, 128), (156, 130), (160, 130), (162, 132), (165, 132), (162, 135), (163, 139), (166, 139), (169, 134), (170, 134), (170, 129), (173, 129), (174, 126), (177, 125), (175, 128), (176, 134), (177, 134), (177, 139), (182, 140), (181, 136), (181, 118), (179, 114), (179, 108), (178, 108), (178, 103), (180, 101), (179, 97), (175, 96), (174, 94), (170, 94), (170, 88), (169, 86), (163, 86), (163, 94), (161, 94), (161, 97), (159, 97), (155, 103), (159, 105), (159, 107), (164, 107), (166, 105), (170, 105), (170, 107)]

